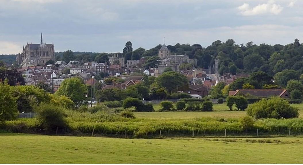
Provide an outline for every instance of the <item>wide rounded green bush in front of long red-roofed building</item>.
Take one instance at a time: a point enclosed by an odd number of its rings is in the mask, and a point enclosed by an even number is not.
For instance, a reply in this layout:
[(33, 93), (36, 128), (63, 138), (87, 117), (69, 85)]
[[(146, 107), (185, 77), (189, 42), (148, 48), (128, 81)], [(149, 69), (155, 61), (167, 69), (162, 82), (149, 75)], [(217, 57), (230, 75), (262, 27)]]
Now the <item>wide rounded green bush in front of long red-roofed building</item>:
[(299, 116), (299, 109), (292, 107), (287, 100), (280, 97), (262, 99), (257, 103), (251, 104), (247, 109), (249, 116), (260, 118), (294, 118)]

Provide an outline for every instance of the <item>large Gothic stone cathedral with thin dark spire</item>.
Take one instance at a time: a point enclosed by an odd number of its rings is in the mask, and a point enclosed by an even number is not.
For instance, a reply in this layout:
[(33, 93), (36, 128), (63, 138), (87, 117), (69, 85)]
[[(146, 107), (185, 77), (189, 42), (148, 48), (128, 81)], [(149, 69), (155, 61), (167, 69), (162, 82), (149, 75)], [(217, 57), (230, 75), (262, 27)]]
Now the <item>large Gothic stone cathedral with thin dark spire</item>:
[(55, 61), (55, 46), (43, 43), (42, 33), (40, 44), (26, 44), (22, 54), (17, 55), (17, 64), (21, 67), (42, 66), (48, 60)]

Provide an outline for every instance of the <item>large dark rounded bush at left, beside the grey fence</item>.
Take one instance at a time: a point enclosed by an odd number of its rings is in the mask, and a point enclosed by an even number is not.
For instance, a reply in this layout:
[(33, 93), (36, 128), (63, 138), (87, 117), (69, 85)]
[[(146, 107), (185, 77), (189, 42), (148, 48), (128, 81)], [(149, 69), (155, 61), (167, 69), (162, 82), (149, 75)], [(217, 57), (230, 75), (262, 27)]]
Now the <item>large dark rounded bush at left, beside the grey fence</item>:
[(42, 102), (36, 109), (37, 119), (41, 127), (48, 131), (54, 131), (57, 127), (66, 127), (63, 109), (53, 104)]

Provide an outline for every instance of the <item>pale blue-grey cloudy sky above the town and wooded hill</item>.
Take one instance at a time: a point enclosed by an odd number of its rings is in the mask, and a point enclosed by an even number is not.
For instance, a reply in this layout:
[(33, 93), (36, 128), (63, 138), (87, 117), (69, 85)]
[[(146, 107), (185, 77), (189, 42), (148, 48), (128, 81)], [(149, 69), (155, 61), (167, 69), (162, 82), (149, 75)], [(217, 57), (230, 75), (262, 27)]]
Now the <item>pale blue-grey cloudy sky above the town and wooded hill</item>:
[(55, 51), (122, 52), (158, 44), (303, 41), (303, 0), (0, 0), (0, 54), (26, 43)]

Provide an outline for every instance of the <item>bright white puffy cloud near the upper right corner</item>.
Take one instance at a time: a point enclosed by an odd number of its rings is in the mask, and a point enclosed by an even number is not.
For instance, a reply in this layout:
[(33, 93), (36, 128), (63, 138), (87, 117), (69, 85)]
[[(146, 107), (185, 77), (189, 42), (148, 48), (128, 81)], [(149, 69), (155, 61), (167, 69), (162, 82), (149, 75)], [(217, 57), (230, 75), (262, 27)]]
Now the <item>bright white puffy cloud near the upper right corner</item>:
[(278, 15), (283, 10), (283, 7), (281, 5), (275, 4), (275, 2), (271, 0), (267, 3), (259, 4), (255, 7), (250, 7), (248, 3), (244, 3), (238, 7), (238, 10), (240, 10), (241, 15), (244, 16), (260, 15), (266, 13)]

